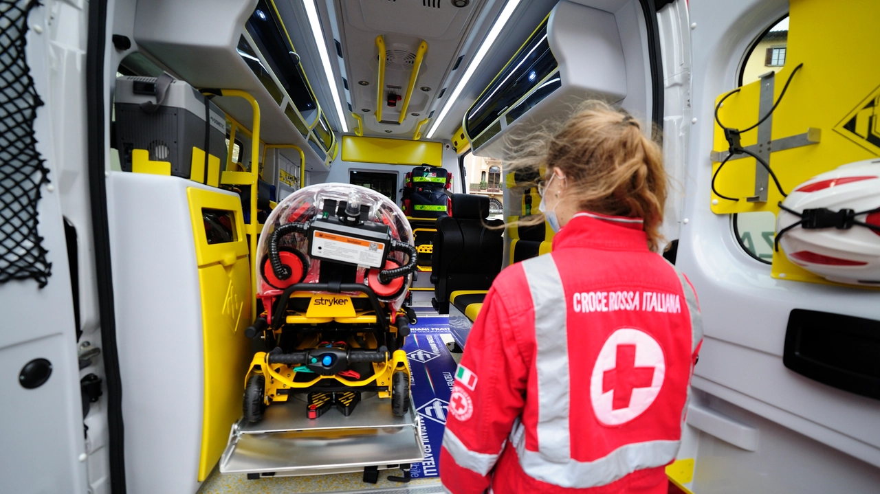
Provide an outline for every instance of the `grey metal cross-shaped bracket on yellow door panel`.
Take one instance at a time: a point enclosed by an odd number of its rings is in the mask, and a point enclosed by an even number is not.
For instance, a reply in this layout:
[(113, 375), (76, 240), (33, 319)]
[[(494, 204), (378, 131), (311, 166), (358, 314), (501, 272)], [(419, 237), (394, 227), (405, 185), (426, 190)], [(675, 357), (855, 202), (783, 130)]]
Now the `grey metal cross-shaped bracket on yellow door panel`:
[[(773, 108), (774, 100), (774, 72), (767, 72), (760, 76), (761, 92), (758, 105), (758, 115), (766, 115)], [(773, 114), (766, 118), (758, 126), (758, 143), (746, 146), (744, 149), (760, 156), (768, 165), (770, 164), (770, 154), (784, 149), (800, 148), (810, 144), (817, 144), (822, 137), (822, 130), (809, 127), (805, 134), (789, 135), (775, 141), (771, 138), (773, 131)], [(713, 163), (721, 163), (727, 156), (729, 151), (712, 151), (710, 158)], [(751, 158), (749, 155), (735, 156), (733, 159)], [(770, 185), (770, 173), (766, 171), (764, 166), (755, 160), (755, 192), (752, 197), (746, 198), (749, 202), (766, 202), (767, 188)]]

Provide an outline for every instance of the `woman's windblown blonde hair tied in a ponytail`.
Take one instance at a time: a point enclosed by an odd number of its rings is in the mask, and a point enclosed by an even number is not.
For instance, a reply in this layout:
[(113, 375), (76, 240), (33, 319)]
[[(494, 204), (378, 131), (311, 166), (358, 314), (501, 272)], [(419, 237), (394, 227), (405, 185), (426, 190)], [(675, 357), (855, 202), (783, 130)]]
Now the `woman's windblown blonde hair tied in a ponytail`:
[[(627, 113), (601, 101), (587, 101), (564, 122), (520, 135), (506, 171), (534, 179), (543, 171), (545, 183), (554, 169), (566, 177), (566, 196), (580, 210), (614, 216), (640, 217), (651, 251), (663, 236), (667, 177), (663, 154), (656, 142), (642, 133), (642, 125)], [(546, 170), (545, 170), (546, 169)], [(544, 215), (521, 224), (543, 222)]]

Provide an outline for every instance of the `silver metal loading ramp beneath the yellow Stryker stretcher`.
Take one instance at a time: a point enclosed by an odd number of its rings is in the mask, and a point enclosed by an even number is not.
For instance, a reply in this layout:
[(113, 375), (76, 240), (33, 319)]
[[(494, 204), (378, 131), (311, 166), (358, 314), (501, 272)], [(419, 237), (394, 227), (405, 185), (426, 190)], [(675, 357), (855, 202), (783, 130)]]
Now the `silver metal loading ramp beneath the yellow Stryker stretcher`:
[(307, 418), (306, 403), (297, 396), (268, 407), (256, 424), (240, 420), (232, 425), (220, 473), (311, 476), (363, 472), (365, 467), (397, 469), (423, 461), (420, 418), (412, 400), (407, 414), (396, 417), (391, 400), (375, 393), (363, 396), (348, 417), (327, 410), (319, 418)]

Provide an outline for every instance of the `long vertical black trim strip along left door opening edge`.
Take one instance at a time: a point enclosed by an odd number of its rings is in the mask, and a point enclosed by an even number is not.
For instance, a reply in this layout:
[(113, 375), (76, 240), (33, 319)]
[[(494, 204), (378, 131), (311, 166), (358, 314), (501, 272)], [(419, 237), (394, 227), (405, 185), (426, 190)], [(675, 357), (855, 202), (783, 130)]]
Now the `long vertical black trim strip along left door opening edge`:
[(110, 236), (104, 155), (106, 143), (106, 55), (107, 0), (89, 2), (89, 33), (85, 54), (85, 99), (88, 119), (89, 200), (92, 203), (92, 235), (101, 327), (101, 354), (107, 389), (107, 432), (109, 435), (110, 491), (126, 494), (125, 430), (122, 424), (122, 383), (116, 346), (113, 270), (110, 263)]

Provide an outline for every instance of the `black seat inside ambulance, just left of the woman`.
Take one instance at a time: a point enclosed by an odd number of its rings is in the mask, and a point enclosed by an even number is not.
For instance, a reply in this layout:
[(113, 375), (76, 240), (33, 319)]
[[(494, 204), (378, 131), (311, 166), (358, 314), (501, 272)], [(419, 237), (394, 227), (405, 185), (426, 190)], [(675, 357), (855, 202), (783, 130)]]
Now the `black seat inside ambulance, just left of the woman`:
[(431, 283), (440, 314), (449, 314), (452, 292), (488, 290), (501, 272), (504, 222), (487, 220), (488, 214), (488, 197), (453, 194), (451, 216), (436, 221)]

